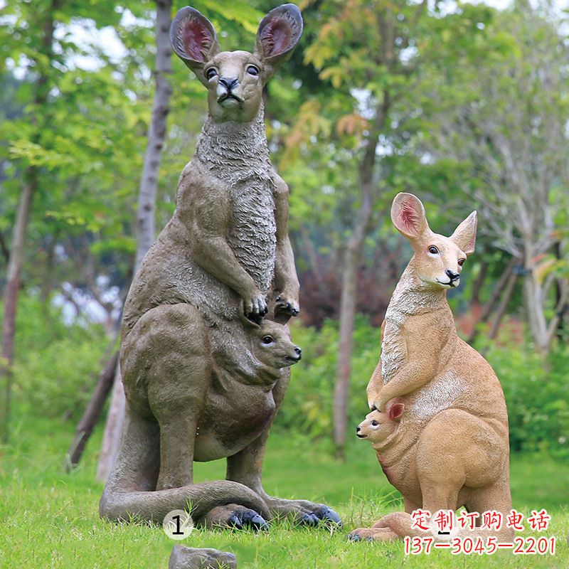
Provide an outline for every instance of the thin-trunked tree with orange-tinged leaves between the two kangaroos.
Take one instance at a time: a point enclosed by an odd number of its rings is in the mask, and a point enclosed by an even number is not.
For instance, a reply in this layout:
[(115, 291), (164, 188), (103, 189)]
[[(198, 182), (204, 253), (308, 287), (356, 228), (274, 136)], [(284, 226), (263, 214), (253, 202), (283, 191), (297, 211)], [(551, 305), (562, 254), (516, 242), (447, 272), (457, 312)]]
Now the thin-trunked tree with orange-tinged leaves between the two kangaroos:
[[(366, 238), (372, 226), (379, 225), (378, 213), (384, 216), (396, 191), (425, 188), (429, 176), (427, 168), (419, 166), (422, 156), (416, 149), (416, 134), (424, 119), (418, 120), (422, 110), (415, 88), (432, 57), (431, 46), (425, 45), (424, 38), (434, 44), (441, 28), (450, 27), (440, 24), (448, 17), (469, 22), (472, 31), (468, 41), (477, 41), (472, 22), (487, 17), (488, 11), (472, 8), (468, 17), (447, 16), (447, 3), (437, 2), (430, 9), (426, 1), (409, 5), (383, 0), (331, 1), (319, 4), (319, 10), (325, 12), (326, 6), (330, 16), (320, 24), (317, 38), (305, 52), (305, 61), (314, 65), (322, 80), (331, 83), (334, 95), (326, 100), (329, 93), (324, 92), (304, 103), (289, 146), (317, 136), (320, 144), (326, 141), (348, 147), (351, 164), (346, 167), (351, 171), (355, 168), (351, 176), (343, 173), (343, 183), (351, 180), (353, 187), (347, 203), (342, 203), (351, 220), (342, 238), (340, 339), (334, 387), (334, 442), (342, 457), (357, 277)], [(341, 154), (336, 146), (334, 149)], [(397, 274), (399, 263), (394, 265)]]

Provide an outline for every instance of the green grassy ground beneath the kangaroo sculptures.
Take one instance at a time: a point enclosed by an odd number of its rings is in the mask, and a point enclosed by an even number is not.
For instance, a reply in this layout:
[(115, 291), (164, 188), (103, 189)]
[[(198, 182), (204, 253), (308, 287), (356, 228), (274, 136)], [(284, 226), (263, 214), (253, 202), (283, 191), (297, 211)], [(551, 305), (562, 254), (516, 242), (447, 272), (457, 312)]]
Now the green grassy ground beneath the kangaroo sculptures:
[[(97, 515), (102, 485), (93, 482), (100, 432), (90, 442), (82, 466), (63, 474), (61, 462), (72, 433), (69, 425), (41, 418), (16, 425), (15, 445), (0, 458), (0, 568), (166, 569), (174, 541), (161, 528), (106, 523)], [(354, 437), (355, 438), (355, 437)], [(198, 482), (223, 477), (221, 462), (198, 465)], [(569, 567), (569, 467), (548, 457), (513, 457), (514, 507), (528, 514), (546, 508), (556, 536), (555, 555), (491, 557), (435, 551), (405, 556), (403, 544), (349, 543), (351, 528), (369, 526), (399, 507), (375, 454), (357, 440), (346, 464), (338, 464), (325, 445), (274, 435), (265, 462), (265, 488), (287, 498), (325, 501), (339, 511), (345, 528), (293, 528), (287, 523), (259, 534), (250, 531), (193, 531), (182, 542), (238, 555), (240, 569), (415, 568), (415, 567)]]

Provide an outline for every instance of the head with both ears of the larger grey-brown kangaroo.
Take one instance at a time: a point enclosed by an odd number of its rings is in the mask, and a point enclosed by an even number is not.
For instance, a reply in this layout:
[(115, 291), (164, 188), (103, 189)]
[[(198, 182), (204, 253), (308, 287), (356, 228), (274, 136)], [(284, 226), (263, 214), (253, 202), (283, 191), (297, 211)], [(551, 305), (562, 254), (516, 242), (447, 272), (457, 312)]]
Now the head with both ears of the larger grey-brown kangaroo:
[(182, 8), (170, 28), (172, 47), (208, 90), (216, 122), (250, 122), (261, 107), (262, 88), (292, 55), (302, 35), (302, 16), (282, 4), (262, 18), (255, 50), (220, 51), (216, 30), (196, 9)]

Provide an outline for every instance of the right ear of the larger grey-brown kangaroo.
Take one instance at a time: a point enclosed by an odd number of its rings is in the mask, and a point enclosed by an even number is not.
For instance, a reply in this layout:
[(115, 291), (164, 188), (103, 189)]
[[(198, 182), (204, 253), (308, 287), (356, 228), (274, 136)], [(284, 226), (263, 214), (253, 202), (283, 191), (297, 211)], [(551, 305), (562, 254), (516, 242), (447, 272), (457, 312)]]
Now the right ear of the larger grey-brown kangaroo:
[(277, 6), (262, 18), (257, 31), (255, 55), (265, 65), (265, 82), (292, 55), (302, 36), (302, 26), (300, 10), (294, 4)]

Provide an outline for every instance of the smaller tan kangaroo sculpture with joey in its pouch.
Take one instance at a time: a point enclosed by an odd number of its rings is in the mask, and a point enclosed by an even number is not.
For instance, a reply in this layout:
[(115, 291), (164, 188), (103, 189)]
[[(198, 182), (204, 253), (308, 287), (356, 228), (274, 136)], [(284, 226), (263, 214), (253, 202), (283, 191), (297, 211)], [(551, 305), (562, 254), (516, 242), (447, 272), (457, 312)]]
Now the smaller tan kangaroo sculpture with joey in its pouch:
[[(357, 434), (372, 441), (405, 512), (350, 537), (424, 536), (411, 527), (416, 509), (496, 510), (505, 522), (511, 496), (504, 394), (489, 363), (457, 336), (447, 303), (474, 252), (476, 212), (447, 238), (430, 230), (418, 198), (399, 193), (391, 220), (415, 255), (385, 314), (381, 360), (367, 388), (372, 413)], [(511, 541), (511, 534), (503, 528), (491, 535)]]

